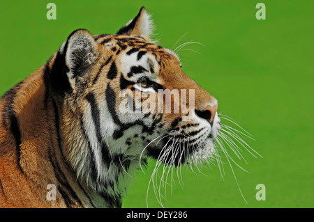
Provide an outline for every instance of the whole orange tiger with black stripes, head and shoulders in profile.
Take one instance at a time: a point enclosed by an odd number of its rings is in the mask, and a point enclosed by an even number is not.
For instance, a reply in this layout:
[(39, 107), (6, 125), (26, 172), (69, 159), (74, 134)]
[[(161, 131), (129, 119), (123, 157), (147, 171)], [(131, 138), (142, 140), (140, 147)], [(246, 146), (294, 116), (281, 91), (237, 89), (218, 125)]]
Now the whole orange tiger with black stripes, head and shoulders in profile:
[[(212, 157), (218, 102), (184, 74), (174, 51), (151, 40), (153, 29), (142, 7), (116, 34), (73, 31), (41, 68), (3, 95), (0, 207), (121, 207), (130, 176), (147, 159), (181, 166)], [(165, 89), (192, 89), (193, 104), (184, 104), (189, 112), (119, 108), (123, 90), (135, 102), (137, 93)], [(182, 105), (173, 95), (170, 102)], [(56, 200), (48, 200), (48, 184)]]

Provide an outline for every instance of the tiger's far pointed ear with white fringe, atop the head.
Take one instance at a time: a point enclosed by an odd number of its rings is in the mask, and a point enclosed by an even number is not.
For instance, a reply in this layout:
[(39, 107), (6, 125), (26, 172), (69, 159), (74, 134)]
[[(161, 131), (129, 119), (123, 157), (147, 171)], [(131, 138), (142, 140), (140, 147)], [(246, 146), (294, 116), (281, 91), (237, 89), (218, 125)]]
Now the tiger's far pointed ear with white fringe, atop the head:
[(151, 15), (147, 13), (144, 6), (140, 9), (140, 13), (134, 19), (131, 19), (126, 26), (119, 29), (118, 35), (145, 35), (151, 37), (154, 24), (151, 21)]

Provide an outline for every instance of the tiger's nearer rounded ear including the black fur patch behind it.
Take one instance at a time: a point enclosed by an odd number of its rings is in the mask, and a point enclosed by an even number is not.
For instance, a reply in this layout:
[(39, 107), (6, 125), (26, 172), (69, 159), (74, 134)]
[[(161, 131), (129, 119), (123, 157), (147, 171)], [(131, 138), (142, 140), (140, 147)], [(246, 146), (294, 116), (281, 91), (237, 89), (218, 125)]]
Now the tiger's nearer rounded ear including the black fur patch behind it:
[(88, 77), (99, 54), (98, 43), (91, 33), (77, 29), (60, 47), (51, 69), (46, 69), (45, 81), (50, 84), (53, 93), (61, 96), (73, 93), (82, 80)]

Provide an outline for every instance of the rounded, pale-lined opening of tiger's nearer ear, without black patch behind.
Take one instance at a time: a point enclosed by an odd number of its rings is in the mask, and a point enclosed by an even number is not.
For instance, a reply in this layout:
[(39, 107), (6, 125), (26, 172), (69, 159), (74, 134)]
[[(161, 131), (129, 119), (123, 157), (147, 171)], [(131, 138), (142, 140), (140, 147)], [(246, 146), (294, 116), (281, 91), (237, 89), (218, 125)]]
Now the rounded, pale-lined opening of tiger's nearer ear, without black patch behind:
[(98, 58), (97, 43), (91, 33), (84, 29), (73, 31), (59, 52), (65, 58), (68, 80), (72, 88), (75, 88), (77, 77), (84, 77)]

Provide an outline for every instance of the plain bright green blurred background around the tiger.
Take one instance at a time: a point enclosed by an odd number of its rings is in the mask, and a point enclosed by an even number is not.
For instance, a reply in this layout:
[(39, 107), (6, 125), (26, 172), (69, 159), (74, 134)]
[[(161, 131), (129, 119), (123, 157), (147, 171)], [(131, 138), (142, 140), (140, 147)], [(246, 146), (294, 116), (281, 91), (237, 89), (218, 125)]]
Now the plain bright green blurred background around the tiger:
[[(57, 20), (46, 18), (50, 1), (3, 1), (0, 7), (0, 93), (47, 61), (75, 29), (115, 33), (141, 6), (153, 15), (155, 39), (171, 48), (193, 40), (179, 56), (184, 72), (219, 101), (219, 112), (250, 132), (262, 155), (232, 165), (182, 169), (167, 187), (165, 207), (314, 207), (313, 52), (314, 1), (262, 1), (266, 20), (255, 18), (259, 1), (53, 1)], [(225, 122), (225, 121), (223, 121)], [(227, 122), (225, 122), (227, 123)], [(154, 161), (130, 184), (123, 207), (146, 207)], [(257, 184), (266, 200), (257, 201)], [(149, 191), (149, 207), (160, 207)]]

